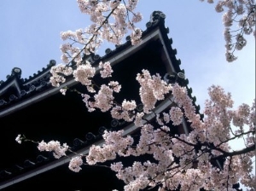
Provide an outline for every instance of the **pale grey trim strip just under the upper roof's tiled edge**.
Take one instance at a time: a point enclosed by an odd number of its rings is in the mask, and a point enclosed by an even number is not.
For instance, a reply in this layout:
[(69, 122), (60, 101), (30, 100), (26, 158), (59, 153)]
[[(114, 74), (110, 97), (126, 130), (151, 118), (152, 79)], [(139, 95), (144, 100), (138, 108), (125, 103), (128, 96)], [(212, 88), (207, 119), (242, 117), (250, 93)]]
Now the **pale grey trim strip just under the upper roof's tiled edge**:
[[(119, 63), (120, 61), (125, 60), (125, 58), (131, 56), (135, 52), (137, 52), (139, 49), (143, 49), (149, 42), (155, 41), (155, 40), (160, 40), (160, 43), (163, 45), (163, 52), (162, 52), (162, 57), (163, 61), (165, 62), (166, 65), (166, 70), (167, 72), (179, 72), (180, 69), (178, 66), (174, 67), (173, 66), (173, 56), (170, 54), (170, 47), (168, 47), (168, 41), (166, 40), (167, 33), (163, 32), (163, 27), (164, 26), (154, 26), (151, 28), (148, 28), (144, 33), (143, 33), (143, 40), (142, 43), (139, 45), (132, 46), (131, 42), (128, 41), (124, 45), (120, 46), (119, 48), (114, 50), (114, 54), (111, 55), (105, 55), (102, 58), (100, 58), (98, 61), (109, 61), (111, 65), (115, 65)], [(166, 42), (167, 41), (167, 42)], [(172, 48), (171, 48), (172, 49)], [(99, 69), (97, 68), (97, 72)], [(42, 78), (42, 76), (46, 75), (49, 73), (49, 69), (45, 70), (44, 73), (42, 73), (40, 76), (37, 78), (33, 78), (29, 82), (26, 81), (23, 85), (29, 85), (32, 84), (33, 82), (37, 81), (39, 78)], [(61, 84), (60, 87), (58, 88), (53, 88), (49, 87), (47, 89), (44, 89), (43, 91), (38, 91), (32, 96), (27, 96), (26, 99), (22, 99), (22, 101), (15, 101), (14, 104), (10, 105), (9, 107), (5, 107), (2, 111), (0, 110), (0, 118), (8, 115), (10, 113), (15, 112), (16, 110), (22, 109), (24, 107), (27, 107), (31, 105), (32, 103), (35, 103), (37, 101), (40, 101), (44, 98), (47, 98), (49, 96), (52, 96), (56, 93), (59, 93), (59, 90), (61, 88), (64, 88), (65, 86), (70, 87), (75, 84), (78, 84), (73, 78), (67, 80), (66, 83)], [(7, 87), (7, 86), (6, 86)], [(1, 109), (1, 108), (0, 108)]]

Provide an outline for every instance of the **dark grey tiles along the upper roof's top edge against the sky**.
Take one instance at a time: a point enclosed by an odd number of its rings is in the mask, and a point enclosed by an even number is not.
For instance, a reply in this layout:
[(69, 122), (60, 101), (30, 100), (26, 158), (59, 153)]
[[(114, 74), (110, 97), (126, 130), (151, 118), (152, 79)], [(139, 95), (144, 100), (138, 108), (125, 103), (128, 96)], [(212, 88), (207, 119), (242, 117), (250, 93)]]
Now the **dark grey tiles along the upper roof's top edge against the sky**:
[[(147, 29), (143, 32), (143, 37), (147, 36), (148, 33), (152, 32), (155, 28), (160, 28), (162, 33), (168, 33), (169, 29), (165, 27), (166, 15), (160, 11), (154, 11), (151, 14), (151, 18), (146, 24)], [(166, 38), (165, 41), (172, 44), (172, 38)], [(113, 55), (119, 54), (127, 47), (131, 46), (131, 38), (128, 36), (126, 42), (116, 47), (116, 49), (106, 49), (105, 55), (84, 55), (84, 59), (90, 60), (93, 64), (99, 63), (99, 61), (107, 61)], [(180, 60), (176, 59), (177, 49), (172, 49), (172, 46), (166, 46), (169, 54), (172, 56), (172, 66), (176, 72), (181, 72), (179, 65)], [(55, 66), (56, 61), (50, 60), (46, 67), (43, 67), (41, 71), (34, 72), (29, 78), (22, 78), (22, 69), (15, 67), (11, 73), (7, 75), (5, 81), (0, 81), (0, 118), (7, 114), (6, 110), (10, 107), (15, 107), (18, 103), (31, 99), (34, 96), (42, 94), (46, 90), (51, 90), (53, 87), (49, 83), (50, 68)], [(183, 72), (183, 71), (182, 71)], [(28, 104), (28, 102), (26, 103)], [(3, 112), (5, 110), (5, 112)], [(15, 109), (16, 110), (16, 109)]]

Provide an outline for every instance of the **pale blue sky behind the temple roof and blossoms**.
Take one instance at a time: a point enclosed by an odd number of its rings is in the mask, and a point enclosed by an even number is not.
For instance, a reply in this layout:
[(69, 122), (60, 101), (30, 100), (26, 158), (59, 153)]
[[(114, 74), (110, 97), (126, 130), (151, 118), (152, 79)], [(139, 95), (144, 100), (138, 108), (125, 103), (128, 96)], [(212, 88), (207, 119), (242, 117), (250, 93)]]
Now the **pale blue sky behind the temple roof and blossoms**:
[[(177, 49), (180, 67), (201, 107), (212, 84), (229, 91), (235, 107), (243, 102), (251, 105), (255, 98), (253, 36), (247, 38), (243, 50), (236, 52), (238, 60), (228, 63), (224, 57), (222, 14), (216, 13), (212, 4), (199, 0), (141, 0), (137, 10), (143, 14), (139, 25), (143, 30), (154, 10), (166, 14), (172, 47)], [(61, 63), (60, 32), (89, 25), (88, 16), (79, 12), (75, 0), (1, 0), (0, 80), (5, 81), (14, 67), (20, 67), (21, 77), (28, 78), (51, 59)]]

